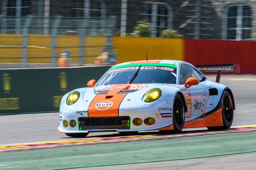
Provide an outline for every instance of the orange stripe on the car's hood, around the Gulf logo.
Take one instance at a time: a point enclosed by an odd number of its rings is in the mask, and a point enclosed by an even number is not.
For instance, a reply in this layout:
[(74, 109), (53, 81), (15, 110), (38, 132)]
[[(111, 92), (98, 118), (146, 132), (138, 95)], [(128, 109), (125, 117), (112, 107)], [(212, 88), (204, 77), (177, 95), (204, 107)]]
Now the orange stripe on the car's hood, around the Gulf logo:
[[(127, 89), (129, 85), (130, 84), (115, 85), (115, 87), (110, 90), (107, 95), (96, 95), (89, 106), (88, 117), (118, 116), (119, 106), (123, 101), (123, 98), (127, 95), (126, 93), (118, 93), (123, 89)], [(111, 101), (113, 104), (106, 110), (99, 110), (96, 108), (96, 104), (102, 101)]]

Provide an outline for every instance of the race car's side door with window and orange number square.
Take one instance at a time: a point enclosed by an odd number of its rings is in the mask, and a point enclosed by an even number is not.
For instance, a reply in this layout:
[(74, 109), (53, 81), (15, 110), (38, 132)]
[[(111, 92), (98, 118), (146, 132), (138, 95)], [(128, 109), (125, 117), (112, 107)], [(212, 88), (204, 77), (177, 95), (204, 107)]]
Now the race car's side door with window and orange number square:
[[(198, 85), (192, 85), (186, 88), (185, 82), (189, 77), (194, 77), (199, 80)], [(185, 120), (195, 119), (205, 113), (206, 97), (208, 96), (208, 89), (204, 85), (205, 77), (194, 67), (183, 64), (180, 66), (180, 87), (187, 103), (187, 112), (185, 113)]]

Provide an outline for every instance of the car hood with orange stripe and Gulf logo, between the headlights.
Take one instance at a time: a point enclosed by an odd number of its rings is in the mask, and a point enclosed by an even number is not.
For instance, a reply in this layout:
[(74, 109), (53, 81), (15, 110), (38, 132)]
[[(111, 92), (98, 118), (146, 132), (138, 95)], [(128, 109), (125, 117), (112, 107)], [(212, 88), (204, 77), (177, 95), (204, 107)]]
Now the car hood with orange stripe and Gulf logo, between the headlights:
[[(148, 90), (164, 85), (166, 84), (119, 84), (90, 87), (84, 91), (83, 103), (88, 104), (88, 116), (90, 117), (118, 116), (119, 106), (123, 101), (142, 98)], [(161, 97), (165, 100), (164, 96)]]

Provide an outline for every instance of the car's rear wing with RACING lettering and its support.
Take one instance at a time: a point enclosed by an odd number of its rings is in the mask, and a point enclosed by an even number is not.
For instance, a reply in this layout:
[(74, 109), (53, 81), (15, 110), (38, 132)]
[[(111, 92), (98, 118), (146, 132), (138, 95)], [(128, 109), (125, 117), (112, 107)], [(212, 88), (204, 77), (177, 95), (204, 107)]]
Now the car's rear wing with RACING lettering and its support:
[(220, 82), (221, 72), (240, 73), (240, 64), (217, 64), (195, 66), (200, 71), (217, 71), (216, 82)]

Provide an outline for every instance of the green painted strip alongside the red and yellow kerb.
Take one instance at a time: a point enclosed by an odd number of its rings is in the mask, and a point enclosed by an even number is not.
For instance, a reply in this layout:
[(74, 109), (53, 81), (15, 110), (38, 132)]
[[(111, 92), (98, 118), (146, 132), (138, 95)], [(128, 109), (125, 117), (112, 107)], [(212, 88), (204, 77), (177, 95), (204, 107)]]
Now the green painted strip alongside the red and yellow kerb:
[(256, 152), (256, 132), (0, 153), (0, 169), (55, 170)]

